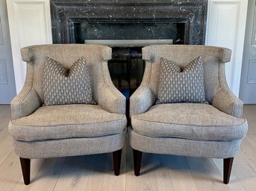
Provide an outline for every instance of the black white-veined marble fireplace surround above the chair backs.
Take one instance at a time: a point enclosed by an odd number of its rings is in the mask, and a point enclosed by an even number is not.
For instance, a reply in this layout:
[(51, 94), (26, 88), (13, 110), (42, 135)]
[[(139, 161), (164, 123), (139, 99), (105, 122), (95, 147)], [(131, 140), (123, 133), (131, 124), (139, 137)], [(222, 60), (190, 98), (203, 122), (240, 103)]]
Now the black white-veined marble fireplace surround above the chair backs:
[[(54, 43), (84, 39), (175, 39), (205, 43), (207, 0), (50, 0)], [(182, 37), (183, 35), (183, 37)]]

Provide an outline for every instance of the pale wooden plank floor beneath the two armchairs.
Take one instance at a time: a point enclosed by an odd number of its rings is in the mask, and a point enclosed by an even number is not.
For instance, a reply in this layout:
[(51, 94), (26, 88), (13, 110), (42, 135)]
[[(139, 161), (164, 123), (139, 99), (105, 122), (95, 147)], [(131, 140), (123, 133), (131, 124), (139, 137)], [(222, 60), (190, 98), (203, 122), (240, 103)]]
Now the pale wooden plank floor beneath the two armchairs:
[(25, 186), (7, 124), (10, 106), (0, 106), (0, 190), (256, 190), (256, 105), (244, 107), (249, 132), (234, 158), (231, 181), (222, 183), (222, 160), (143, 154), (141, 175), (134, 176), (131, 147), (122, 153), (121, 174), (113, 175), (111, 154), (37, 159)]

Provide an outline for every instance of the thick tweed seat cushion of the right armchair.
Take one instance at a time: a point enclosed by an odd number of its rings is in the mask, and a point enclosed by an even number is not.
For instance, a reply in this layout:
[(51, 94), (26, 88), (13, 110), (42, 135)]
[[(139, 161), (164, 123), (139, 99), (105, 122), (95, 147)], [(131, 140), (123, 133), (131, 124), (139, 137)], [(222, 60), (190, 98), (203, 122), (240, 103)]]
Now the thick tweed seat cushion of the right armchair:
[(247, 132), (245, 119), (203, 103), (154, 105), (146, 113), (133, 114), (131, 125), (142, 135), (192, 140), (239, 140)]

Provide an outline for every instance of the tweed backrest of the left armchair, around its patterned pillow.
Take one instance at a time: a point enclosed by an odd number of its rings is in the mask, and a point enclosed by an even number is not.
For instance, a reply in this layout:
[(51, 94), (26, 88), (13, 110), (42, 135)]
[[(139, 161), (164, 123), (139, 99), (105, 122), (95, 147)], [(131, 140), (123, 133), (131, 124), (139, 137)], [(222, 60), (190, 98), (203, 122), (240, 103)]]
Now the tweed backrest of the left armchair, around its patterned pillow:
[[(111, 80), (107, 68), (107, 60), (111, 59), (111, 48), (103, 45), (34, 45), (21, 49), (22, 60), (27, 62), (27, 74), (25, 85), (32, 83), (32, 87), (37, 91), (42, 103), (43, 97), (43, 68), (46, 56), (60, 62), (66, 68), (81, 56), (87, 60), (88, 71), (93, 91), (93, 99), (98, 100), (98, 92), (102, 80)], [(30, 87), (31, 87), (30, 86)]]

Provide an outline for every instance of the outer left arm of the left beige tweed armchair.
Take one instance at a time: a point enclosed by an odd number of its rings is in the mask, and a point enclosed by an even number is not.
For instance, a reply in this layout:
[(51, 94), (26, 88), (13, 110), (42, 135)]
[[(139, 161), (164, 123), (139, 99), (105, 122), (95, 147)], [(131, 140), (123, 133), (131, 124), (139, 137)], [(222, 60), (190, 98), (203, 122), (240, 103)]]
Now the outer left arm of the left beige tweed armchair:
[(28, 116), (42, 105), (35, 89), (23, 88), (10, 103), (12, 120)]

